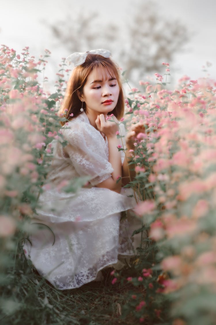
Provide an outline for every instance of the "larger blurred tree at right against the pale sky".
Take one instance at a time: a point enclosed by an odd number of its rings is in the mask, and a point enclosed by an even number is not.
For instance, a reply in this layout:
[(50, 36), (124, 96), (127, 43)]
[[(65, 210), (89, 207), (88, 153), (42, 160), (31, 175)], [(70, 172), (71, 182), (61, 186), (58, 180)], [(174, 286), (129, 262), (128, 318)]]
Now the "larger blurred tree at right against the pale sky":
[(128, 48), (121, 53), (126, 76), (134, 80), (149, 72), (160, 72), (163, 61), (171, 62), (188, 41), (185, 26), (160, 17), (153, 3), (142, 3), (131, 19), (127, 34)]

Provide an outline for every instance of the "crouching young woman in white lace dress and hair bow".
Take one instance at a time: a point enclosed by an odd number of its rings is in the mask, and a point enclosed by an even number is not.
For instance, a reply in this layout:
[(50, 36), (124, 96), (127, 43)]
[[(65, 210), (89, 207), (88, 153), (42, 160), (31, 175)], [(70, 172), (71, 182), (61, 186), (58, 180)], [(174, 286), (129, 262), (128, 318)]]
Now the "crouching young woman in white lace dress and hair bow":
[[(109, 56), (107, 50), (93, 50), (68, 58), (75, 68), (59, 111), (69, 121), (61, 128), (67, 145), (51, 143), (53, 161), (37, 210), (40, 227), (24, 245), (39, 273), (62, 290), (98, 279), (119, 254), (134, 255), (130, 222), (120, 221), (120, 214), (134, 206), (122, 183), (134, 177), (129, 150), (142, 125), (132, 125), (126, 134), (119, 123), (123, 89)], [(121, 139), (126, 154), (119, 151)], [(60, 190), (83, 176), (88, 184), (77, 193)]]

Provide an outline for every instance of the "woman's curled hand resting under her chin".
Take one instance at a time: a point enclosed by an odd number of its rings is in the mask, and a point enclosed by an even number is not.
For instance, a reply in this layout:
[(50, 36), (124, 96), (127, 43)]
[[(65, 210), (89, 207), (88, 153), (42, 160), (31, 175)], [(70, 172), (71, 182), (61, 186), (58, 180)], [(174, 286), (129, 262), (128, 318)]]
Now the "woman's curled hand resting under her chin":
[(97, 125), (97, 129), (104, 133), (107, 138), (116, 137), (116, 132), (119, 131), (119, 121), (115, 116), (112, 116), (112, 121), (107, 120), (110, 115), (107, 114), (100, 114), (97, 115), (97, 119), (95, 123)]

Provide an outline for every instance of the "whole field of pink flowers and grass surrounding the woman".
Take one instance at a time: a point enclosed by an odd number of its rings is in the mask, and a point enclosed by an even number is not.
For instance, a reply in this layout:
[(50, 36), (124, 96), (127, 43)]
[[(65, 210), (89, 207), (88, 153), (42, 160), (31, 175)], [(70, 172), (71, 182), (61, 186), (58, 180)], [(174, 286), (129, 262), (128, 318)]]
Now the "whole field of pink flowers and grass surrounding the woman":
[(0, 52), (1, 324), (216, 324), (216, 81), (184, 76), (172, 89), (163, 63), (154, 84), (131, 89), (123, 123), (145, 125), (131, 152), (140, 245), (128, 267), (73, 295), (41, 279), (22, 252), (49, 143), (61, 137), (57, 111), (70, 73), (63, 59), (56, 92), (46, 94), (38, 75), (49, 56)]

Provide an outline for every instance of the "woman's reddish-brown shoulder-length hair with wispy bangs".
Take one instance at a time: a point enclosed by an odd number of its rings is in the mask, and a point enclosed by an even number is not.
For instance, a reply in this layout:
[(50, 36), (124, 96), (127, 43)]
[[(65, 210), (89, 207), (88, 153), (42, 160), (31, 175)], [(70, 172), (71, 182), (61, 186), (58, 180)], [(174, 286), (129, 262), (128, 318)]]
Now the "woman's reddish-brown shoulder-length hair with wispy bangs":
[[(114, 114), (118, 120), (123, 116), (125, 105), (124, 93), (117, 65), (109, 58), (104, 58), (99, 54), (90, 53), (88, 53), (83, 64), (74, 68), (70, 76), (63, 103), (59, 110), (59, 116), (65, 117), (67, 120), (71, 120), (81, 113), (80, 108), (82, 106), (82, 102), (78, 98), (77, 90), (79, 90), (79, 92), (82, 94), (88, 75), (95, 70), (100, 70), (102, 73), (107, 72), (111, 78), (116, 78), (119, 85), (119, 98), (116, 107), (114, 110), (112, 110), (112, 114)], [(83, 108), (85, 110), (85, 103), (83, 103)], [(71, 117), (70, 114), (72, 113), (73, 116)], [(62, 121), (60, 123), (64, 125), (65, 122), (66, 121)]]

